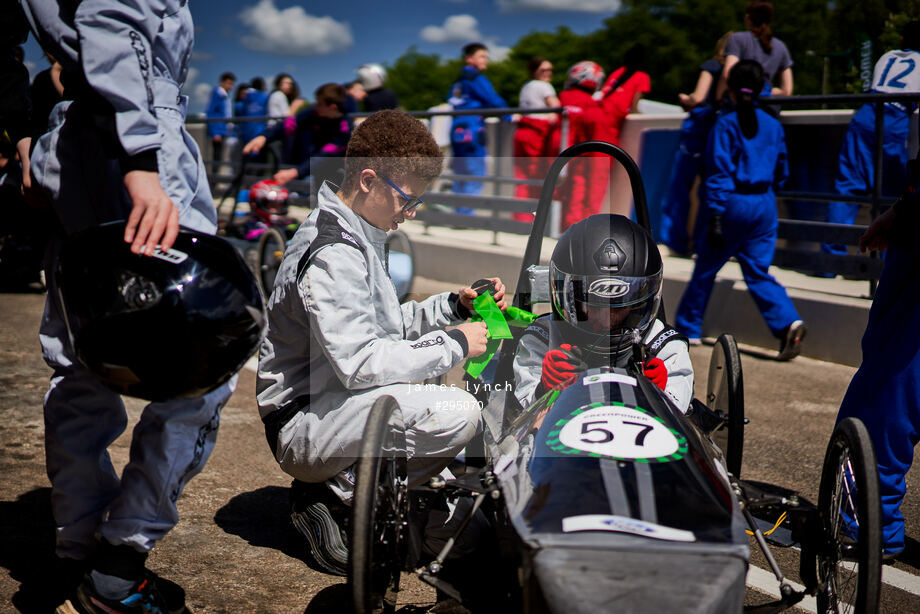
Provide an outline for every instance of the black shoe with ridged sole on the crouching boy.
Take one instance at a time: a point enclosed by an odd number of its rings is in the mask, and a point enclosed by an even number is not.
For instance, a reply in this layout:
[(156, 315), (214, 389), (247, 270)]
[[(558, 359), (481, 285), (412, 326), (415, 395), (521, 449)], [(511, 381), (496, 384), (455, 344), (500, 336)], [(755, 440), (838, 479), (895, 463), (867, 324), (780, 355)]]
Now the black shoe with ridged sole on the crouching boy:
[(313, 560), (328, 573), (348, 574), (348, 506), (324, 484), (291, 483), (291, 522)]

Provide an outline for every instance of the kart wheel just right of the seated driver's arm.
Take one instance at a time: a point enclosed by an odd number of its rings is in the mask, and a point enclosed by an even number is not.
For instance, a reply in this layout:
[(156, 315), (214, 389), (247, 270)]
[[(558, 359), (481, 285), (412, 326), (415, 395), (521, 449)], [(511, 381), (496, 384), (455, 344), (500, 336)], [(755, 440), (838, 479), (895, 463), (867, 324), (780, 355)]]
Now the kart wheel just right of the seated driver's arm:
[(706, 391), (706, 405), (728, 416), (728, 421), (712, 433), (712, 440), (725, 455), (729, 473), (740, 477), (744, 452), (744, 378), (738, 344), (732, 335), (725, 333), (716, 339)]

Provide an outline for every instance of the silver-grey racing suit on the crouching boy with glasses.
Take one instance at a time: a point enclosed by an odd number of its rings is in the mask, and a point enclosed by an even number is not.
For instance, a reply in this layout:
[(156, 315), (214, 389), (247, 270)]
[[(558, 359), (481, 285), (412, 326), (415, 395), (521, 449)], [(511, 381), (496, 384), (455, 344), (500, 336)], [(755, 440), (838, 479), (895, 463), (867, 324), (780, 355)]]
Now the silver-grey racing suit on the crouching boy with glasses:
[(332, 480), (348, 500), (374, 401), (392, 395), (406, 422), (410, 484), (444, 468), (479, 426), (468, 392), (417, 382), (446, 373), (466, 340), (444, 327), (468, 316), (456, 294), (402, 305), (386, 269), (386, 232), (322, 186), (294, 235), (268, 301), (256, 393), (281, 468)]

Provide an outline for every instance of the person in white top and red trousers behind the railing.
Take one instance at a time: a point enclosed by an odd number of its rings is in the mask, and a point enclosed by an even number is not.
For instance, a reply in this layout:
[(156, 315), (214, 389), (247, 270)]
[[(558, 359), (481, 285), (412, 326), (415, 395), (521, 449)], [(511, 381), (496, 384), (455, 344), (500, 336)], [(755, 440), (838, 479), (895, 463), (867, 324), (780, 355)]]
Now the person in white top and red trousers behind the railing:
[[(520, 107), (522, 109), (545, 109), (558, 107), (559, 98), (550, 84), (553, 65), (544, 57), (535, 56), (527, 65), (531, 80), (521, 88)], [(553, 113), (533, 113), (521, 115), (517, 130), (514, 132), (514, 178), (540, 179), (546, 177), (546, 171), (552, 159), (559, 153), (559, 132), (556, 130), (558, 117)], [(539, 185), (519, 184), (514, 188), (515, 198), (539, 198)], [(519, 222), (532, 222), (532, 213), (514, 212), (512, 219)]]

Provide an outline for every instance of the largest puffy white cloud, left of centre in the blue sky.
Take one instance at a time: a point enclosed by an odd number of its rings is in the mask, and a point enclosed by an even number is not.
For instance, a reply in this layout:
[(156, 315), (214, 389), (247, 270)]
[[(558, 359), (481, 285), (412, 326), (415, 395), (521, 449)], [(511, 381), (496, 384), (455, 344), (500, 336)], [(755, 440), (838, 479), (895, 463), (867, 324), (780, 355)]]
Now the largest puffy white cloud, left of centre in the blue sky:
[(309, 15), (300, 6), (278, 9), (274, 0), (259, 0), (240, 11), (239, 18), (250, 28), (243, 36), (243, 45), (253, 51), (326, 55), (348, 49), (354, 43), (347, 23)]

